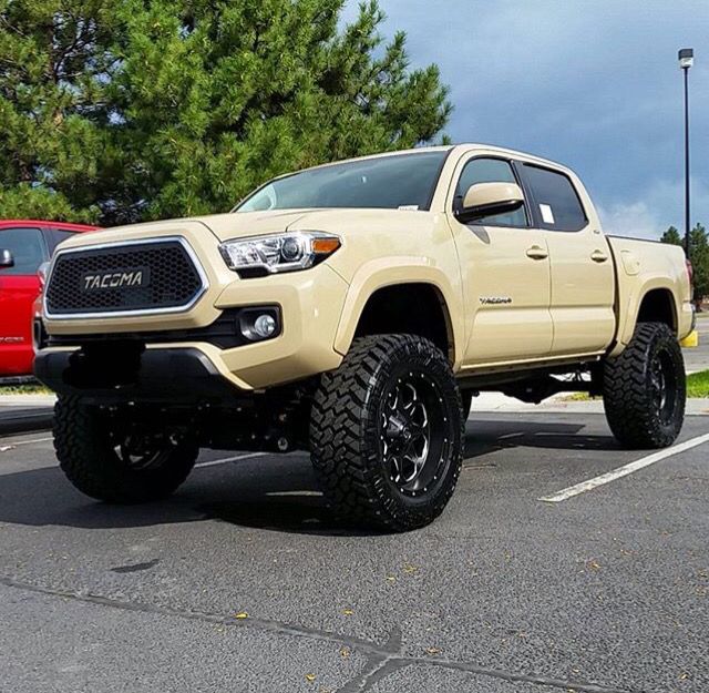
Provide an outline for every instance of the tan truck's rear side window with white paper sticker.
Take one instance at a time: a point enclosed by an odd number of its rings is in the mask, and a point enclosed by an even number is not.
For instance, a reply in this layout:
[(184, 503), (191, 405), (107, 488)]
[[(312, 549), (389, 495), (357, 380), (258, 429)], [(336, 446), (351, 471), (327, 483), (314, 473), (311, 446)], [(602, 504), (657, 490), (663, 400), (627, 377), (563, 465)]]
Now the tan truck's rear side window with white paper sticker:
[(558, 171), (524, 164), (540, 226), (549, 231), (580, 231), (588, 220), (574, 184)]

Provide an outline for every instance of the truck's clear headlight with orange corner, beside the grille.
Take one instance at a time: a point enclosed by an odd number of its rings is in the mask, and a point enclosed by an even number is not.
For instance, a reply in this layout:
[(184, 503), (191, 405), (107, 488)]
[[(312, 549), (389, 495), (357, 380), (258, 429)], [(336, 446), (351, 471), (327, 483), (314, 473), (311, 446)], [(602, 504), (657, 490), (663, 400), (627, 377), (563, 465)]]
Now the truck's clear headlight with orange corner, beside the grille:
[(306, 231), (227, 241), (219, 251), (229, 269), (248, 277), (312, 267), (340, 245), (337, 236)]

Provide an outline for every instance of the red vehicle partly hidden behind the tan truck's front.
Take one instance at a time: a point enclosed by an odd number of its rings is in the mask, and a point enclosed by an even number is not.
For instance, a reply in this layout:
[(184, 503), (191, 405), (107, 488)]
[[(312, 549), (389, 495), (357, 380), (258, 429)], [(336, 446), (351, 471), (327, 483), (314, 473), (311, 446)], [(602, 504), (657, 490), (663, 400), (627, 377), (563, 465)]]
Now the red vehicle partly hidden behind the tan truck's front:
[(0, 221), (0, 377), (32, 373), (32, 312), (38, 269), (72, 234), (95, 226), (27, 220)]

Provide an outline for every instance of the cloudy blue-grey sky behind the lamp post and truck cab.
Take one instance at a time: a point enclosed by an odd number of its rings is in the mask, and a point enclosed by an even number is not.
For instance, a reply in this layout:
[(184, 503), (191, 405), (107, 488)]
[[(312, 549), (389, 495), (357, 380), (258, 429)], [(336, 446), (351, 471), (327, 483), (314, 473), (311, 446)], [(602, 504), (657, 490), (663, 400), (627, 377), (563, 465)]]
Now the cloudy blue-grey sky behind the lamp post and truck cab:
[[(343, 20), (357, 12), (348, 0)], [(684, 227), (682, 82), (690, 71), (692, 221), (709, 226), (709, 0), (380, 0), (412, 67), (438, 63), (454, 142), (559, 161), (606, 228)]]

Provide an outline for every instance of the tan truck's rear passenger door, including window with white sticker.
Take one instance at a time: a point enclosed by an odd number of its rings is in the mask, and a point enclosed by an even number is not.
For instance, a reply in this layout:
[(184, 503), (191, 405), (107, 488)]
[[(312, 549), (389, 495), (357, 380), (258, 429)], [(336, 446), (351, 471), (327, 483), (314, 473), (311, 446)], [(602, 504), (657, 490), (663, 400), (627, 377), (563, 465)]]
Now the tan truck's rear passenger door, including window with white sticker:
[(517, 171), (549, 251), (552, 354), (603, 351), (615, 334), (615, 269), (590, 201), (563, 171), (528, 162), (517, 164)]

